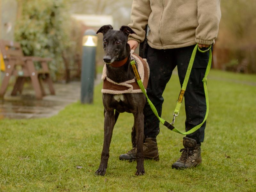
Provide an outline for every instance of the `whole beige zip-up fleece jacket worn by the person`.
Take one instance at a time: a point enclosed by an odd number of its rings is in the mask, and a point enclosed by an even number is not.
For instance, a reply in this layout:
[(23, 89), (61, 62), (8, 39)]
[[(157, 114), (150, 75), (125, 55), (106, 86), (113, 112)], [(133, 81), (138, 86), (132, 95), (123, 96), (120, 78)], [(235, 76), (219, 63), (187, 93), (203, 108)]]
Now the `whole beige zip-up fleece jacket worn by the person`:
[(139, 43), (150, 28), (148, 44), (155, 49), (173, 49), (213, 44), (219, 30), (220, 0), (133, 0), (131, 24)]

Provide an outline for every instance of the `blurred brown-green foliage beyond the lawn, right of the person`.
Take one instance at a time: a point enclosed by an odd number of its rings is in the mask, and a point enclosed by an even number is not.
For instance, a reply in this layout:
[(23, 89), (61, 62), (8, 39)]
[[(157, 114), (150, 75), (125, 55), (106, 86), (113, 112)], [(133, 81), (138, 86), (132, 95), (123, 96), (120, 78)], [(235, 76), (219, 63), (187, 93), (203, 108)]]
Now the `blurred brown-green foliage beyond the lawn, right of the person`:
[(216, 68), (256, 73), (256, 1), (222, 0)]

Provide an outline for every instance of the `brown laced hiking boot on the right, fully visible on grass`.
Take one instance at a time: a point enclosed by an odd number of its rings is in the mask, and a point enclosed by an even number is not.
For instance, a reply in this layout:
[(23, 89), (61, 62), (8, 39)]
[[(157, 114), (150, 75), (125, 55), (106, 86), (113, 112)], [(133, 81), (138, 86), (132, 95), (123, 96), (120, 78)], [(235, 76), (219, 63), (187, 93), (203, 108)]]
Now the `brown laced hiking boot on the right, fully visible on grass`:
[(183, 138), (183, 149), (180, 149), (180, 158), (172, 164), (172, 168), (175, 169), (186, 169), (195, 167), (202, 162), (201, 159), (201, 143), (196, 144), (196, 140), (184, 137)]

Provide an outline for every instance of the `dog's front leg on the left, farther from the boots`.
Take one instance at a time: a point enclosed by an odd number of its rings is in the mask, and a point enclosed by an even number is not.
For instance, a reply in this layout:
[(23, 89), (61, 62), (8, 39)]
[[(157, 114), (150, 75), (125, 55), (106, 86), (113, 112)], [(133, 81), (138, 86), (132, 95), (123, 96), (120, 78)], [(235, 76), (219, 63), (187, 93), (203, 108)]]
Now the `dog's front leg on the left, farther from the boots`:
[(105, 175), (108, 166), (109, 146), (112, 138), (113, 128), (115, 124), (114, 109), (106, 110), (104, 119), (104, 143), (101, 153), (99, 169), (95, 175)]

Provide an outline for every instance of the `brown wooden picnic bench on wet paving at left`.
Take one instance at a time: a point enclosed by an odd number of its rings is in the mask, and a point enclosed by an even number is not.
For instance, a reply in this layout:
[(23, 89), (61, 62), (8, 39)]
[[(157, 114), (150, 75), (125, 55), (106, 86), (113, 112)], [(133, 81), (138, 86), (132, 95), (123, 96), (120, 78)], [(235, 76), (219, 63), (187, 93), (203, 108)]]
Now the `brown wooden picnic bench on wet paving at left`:
[[(0, 89), (0, 97), (4, 97), (11, 76), (16, 77), (16, 81), (11, 93), (12, 96), (17, 95), (17, 92), (20, 92), (21, 94), (26, 78), (31, 79), (37, 99), (42, 99), (42, 97), (45, 95), (42, 84), (43, 78), (49, 86), (50, 93), (52, 95), (55, 94), (47, 64), (52, 59), (41, 57), (24, 57), (20, 44), (12, 41), (0, 40), (0, 50), (2, 52), (5, 65), (5, 75)], [(34, 62), (41, 65), (39, 70), (36, 70)]]

